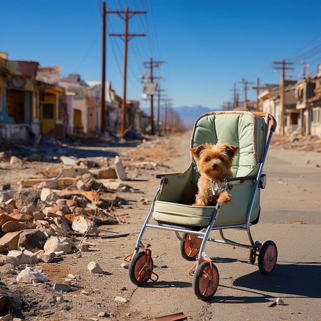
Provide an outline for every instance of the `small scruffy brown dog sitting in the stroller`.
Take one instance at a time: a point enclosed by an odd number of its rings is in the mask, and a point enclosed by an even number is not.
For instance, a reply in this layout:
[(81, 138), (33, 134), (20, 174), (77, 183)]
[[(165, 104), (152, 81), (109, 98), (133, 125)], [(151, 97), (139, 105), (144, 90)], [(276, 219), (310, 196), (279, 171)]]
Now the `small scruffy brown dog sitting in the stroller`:
[(233, 158), (238, 147), (227, 143), (202, 144), (191, 149), (200, 176), (193, 206), (213, 206), (216, 202), (227, 204), (232, 195), (223, 191), (225, 178), (233, 177)]

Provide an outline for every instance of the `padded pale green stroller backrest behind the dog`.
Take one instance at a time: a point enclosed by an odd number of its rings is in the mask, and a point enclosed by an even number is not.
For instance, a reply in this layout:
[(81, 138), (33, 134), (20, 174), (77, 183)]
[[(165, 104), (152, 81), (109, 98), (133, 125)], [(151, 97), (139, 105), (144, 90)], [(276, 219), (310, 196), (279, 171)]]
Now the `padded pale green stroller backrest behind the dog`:
[[(191, 148), (217, 142), (237, 146), (232, 165), (234, 177), (255, 175), (263, 159), (267, 131), (266, 119), (248, 111), (209, 112), (195, 122)], [(196, 181), (198, 172), (193, 157), (192, 163), (196, 172), (193, 181)]]

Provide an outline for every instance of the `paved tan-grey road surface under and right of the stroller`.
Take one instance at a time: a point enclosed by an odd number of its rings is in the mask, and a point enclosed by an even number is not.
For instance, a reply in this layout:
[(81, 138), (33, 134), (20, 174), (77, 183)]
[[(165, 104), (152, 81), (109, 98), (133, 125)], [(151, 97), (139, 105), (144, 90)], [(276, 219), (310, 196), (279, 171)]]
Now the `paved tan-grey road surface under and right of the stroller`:
[[(173, 172), (190, 164), (189, 139), (186, 134), (177, 141), (182, 153), (170, 163)], [(308, 159), (310, 164), (305, 164)], [(206, 252), (220, 280), (212, 302), (203, 302), (193, 292), (188, 275), (193, 264), (180, 256), (175, 234), (152, 229), (145, 233), (159, 279), (133, 286), (130, 308), (143, 315), (148, 311), (149, 316), (183, 312), (188, 320), (320, 320), (321, 169), (315, 164), (321, 165), (319, 153), (269, 151), (260, 220), (251, 232), (255, 240), (273, 240), (277, 246), (277, 264), (270, 275), (259, 272), (257, 260), (249, 264), (249, 250), (207, 242)], [(226, 234), (248, 243), (244, 231), (229, 229)], [(277, 298), (284, 305), (277, 305)]]

